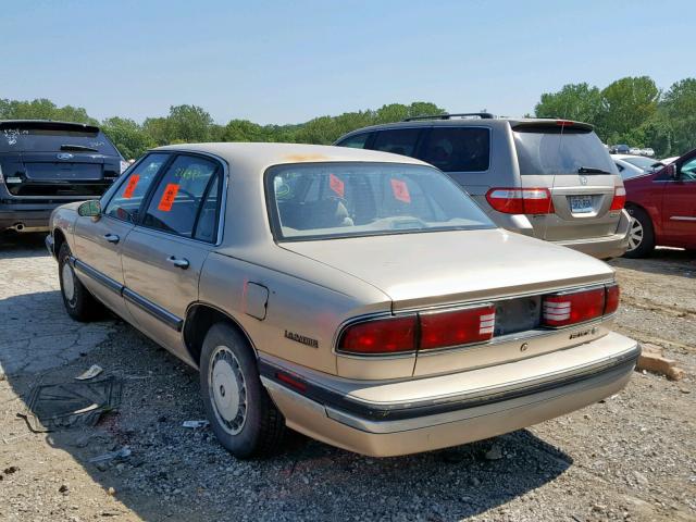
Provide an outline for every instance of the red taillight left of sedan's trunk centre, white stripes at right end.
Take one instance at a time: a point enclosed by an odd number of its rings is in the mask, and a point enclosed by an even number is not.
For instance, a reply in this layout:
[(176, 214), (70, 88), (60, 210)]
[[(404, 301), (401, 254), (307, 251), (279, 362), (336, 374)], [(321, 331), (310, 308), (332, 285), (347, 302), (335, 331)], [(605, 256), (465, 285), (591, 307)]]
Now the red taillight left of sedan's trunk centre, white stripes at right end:
[(431, 350), (490, 340), (496, 309), (493, 304), (486, 304), (452, 312), (423, 313), (420, 318), (420, 348)]

